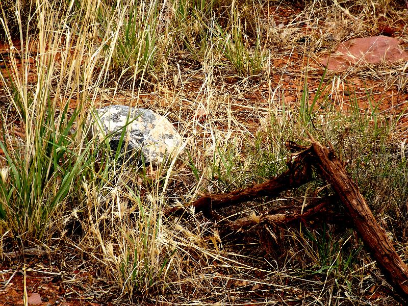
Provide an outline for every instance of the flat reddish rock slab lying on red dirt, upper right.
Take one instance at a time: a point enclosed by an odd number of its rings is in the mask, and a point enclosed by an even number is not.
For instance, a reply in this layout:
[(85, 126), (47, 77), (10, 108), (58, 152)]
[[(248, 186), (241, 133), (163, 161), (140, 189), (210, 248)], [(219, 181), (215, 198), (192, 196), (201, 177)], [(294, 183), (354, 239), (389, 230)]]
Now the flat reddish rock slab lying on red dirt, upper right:
[[(323, 66), (334, 71), (344, 71), (351, 66), (408, 61), (408, 52), (399, 46), (399, 40), (388, 36), (354, 38), (342, 42), (334, 54), (321, 59)], [(327, 63), (328, 62), (328, 63)]]

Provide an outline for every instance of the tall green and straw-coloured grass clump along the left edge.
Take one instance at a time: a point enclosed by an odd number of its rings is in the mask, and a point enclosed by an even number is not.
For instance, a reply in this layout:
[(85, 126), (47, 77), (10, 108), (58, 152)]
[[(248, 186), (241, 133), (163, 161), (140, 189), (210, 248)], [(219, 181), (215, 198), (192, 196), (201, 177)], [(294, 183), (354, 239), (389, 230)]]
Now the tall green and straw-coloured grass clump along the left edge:
[[(5, 133), (0, 146), (6, 156), (5, 167), (10, 170), (1, 186), (1, 205), (6, 212), (2, 228), (20, 241), (42, 239), (47, 234), (53, 213), (65, 201), (74, 177), (86, 164), (86, 153), (72, 150), (69, 135), (78, 111), (74, 110), (71, 116), (61, 87), (54, 86), (56, 78), (66, 72), (57, 62), (65, 33), (51, 30), (60, 24), (58, 16), (65, 8), (48, 2), (36, 5), (38, 9), (32, 10), (28, 19), (28, 22), (36, 22), (38, 34), (34, 37), (22, 32), (22, 20), (16, 11), (19, 48), (13, 45), (8, 25), (3, 22), (13, 52), (7, 75), (2, 74), (1, 79), (11, 107), (18, 114), (22, 136), (17, 139), (3, 126)], [(21, 58), (21, 66), (18, 58)], [(32, 61), (34, 64), (30, 64)], [(29, 80), (31, 69), (37, 72), (35, 84)], [(72, 92), (70, 94), (72, 96)], [(3, 119), (7, 124), (7, 118)]]

